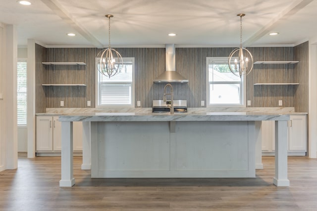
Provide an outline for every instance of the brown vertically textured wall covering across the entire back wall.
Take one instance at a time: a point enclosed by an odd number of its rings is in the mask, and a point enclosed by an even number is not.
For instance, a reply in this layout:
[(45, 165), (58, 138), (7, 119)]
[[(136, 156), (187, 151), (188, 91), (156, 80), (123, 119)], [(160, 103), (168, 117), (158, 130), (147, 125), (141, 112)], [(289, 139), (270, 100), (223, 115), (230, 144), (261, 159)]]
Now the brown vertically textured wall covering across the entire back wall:
[[(188, 107), (201, 107), (201, 100), (206, 101), (206, 57), (226, 57), (232, 49), (176, 47), (176, 71), (187, 78), (189, 83), (173, 84), (174, 99), (187, 99)], [(308, 57), (308, 49), (302, 47), (298, 49), (301, 49), (297, 53), (300, 55), (299, 60), (305, 60)], [(61, 100), (64, 101), (64, 108), (86, 108), (87, 100), (91, 101), (91, 107), (94, 108), (95, 57), (100, 50), (44, 48), (37, 45), (36, 112), (45, 112), (46, 108), (59, 108)], [(163, 95), (165, 84), (154, 84), (153, 80), (165, 71), (165, 48), (117, 48), (117, 50), (123, 57), (135, 58), (135, 106), (136, 101), (139, 100), (141, 107), (152, 107), (152, 101), (162, 99)], [(254, 61), (294, 60), (295, 54), (293, 47), (253, 47), (249, 50), (254, 56)], [(45, 66), (41, 62), (85, 62), (87, 65), (52, 67)], [(303, 68), (308, 71), (308, 67)], [(296, 65), (255, 65), (253, 72), (246, 79), (246, 100), (251, 100), (252, 107), (278, 107), (278, 100), (283, 100), (283, 107), (299, 106), (295, 103), (295, 98), (301, 96), (301, 92), (305, 89), (293, 85), (253, 85), (274, 82), (304, 83), (302, 80), (307, 76), (297, 79), (299, 76), (294, 74), (295, 69), (297, 69)], [(53, 83), (87, 84), (87, 86), (43, 87), (41, 85)]]

